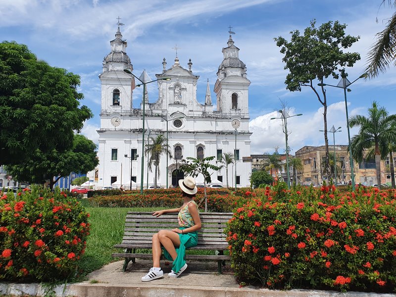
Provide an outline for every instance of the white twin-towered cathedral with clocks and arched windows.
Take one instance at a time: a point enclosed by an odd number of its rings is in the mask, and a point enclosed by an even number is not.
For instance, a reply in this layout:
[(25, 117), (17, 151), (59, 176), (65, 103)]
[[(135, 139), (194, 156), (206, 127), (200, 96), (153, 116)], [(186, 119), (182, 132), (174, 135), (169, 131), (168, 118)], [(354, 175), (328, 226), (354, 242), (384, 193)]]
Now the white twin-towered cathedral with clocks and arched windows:
[[(222, 49), (224, 57), (214, 85), (217, 110), (213, 110), (209, 81), (204, 103), (198, 102), (199, 76), (193, 74), (191, 59), (187, 63), (188, 69), (180, 65), (177, 53), (174, 64), (169, 68), (163, 59), (162, 73), (156, 74), (156, 82), (152, 81), (158, 84), (158, 97), (152, 100), (154, 96), (150, 95), (152, 102), (149, 102), (146, 89), (140, 108), (133, 108), (131, 86), (141, 82), (135, 81), (131, 75), (139, 76), (133, 72), (126, 53), (127, 43), (122, 40), (118, 26), (115, 39), (110, 41), (111, 52), (105, 56), (103, 72), (99, 75), (101, 111), (97, 188), (122, 184), (129, 189), (132, 184), (132, 189), (139, 189), (141, 183), (144, 189), (152, 186), (154, 170), (148, 170), (147, 155), (142, 164), (142, 156), (144, 146), (158, 134), (168, 135), (172, 154), (161, 155), (157, 185), (177, 185), (177, 181), (183, 178), (183, 172), (178, 170), (182, 158), (215, 156), (215, 164), (222, 153), (230, 152), (235, 154), (237, 161), (228, 168), (229, 186), (250, 186), (251, 163), (243, 162), (243, 156), (250, 156), (250, 81), (231, 33), (227, 47)], [(141, 78), (147, 86), (149, 81), (144, 79)], [(212, 183), (225, 187), (226, 168), (212, 172), (211, 179)], [(197, 184), (203, 183), (202, 175), (196, 180)]]

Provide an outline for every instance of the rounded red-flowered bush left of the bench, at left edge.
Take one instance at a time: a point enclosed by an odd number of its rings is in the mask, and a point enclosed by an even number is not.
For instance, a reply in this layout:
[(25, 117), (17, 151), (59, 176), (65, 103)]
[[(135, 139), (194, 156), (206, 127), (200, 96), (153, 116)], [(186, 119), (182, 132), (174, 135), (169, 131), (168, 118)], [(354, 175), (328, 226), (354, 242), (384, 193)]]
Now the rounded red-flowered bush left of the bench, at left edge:
[(66, 194), (33, 188), (0, 192), (0, 279), (65, 279), (89, 235), (89, 214)]

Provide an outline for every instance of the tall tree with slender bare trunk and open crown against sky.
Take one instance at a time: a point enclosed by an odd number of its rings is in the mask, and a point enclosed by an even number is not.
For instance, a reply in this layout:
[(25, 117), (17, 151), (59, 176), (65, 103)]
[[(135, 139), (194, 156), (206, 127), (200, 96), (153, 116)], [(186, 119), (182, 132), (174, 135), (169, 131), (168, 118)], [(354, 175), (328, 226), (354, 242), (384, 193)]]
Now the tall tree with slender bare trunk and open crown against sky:
[[(360, 59), (357, 52), (347, 52), (359, 37), (346, 35), (346, 24), (339, 21), (329, 21), (315, 27), (316, 21), (311, 21), (310, 27), (300, 35), (299, 30), (291, 32), (291, 41), (283, 37), (275, 38), (276, 45), (281, 48), (285, 69), (289, 70), (286, 76), (286, 89), (291, 92), (301, 91), (301, 87), (308, 87), (323, 105), (324, 138), (326, 147), (325, 171), (329, 170), (329, 141), (327, 138), (327, 97), (324, 87), (316, 90), (316, 82), (324, 83), (324, 79), (332, 76), (339, 78), (339, 73), (345, 67), (352, 67)], [(315, 82), (316, 81), (316, 82)]]

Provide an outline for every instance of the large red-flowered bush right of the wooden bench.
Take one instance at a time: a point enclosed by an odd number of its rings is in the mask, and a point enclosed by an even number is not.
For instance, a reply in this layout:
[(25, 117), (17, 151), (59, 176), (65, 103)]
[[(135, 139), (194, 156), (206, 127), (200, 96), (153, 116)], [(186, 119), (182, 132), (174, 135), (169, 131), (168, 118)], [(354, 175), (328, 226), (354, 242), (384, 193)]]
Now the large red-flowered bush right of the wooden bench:
[(271, 190), (239, 207), (228, 227), (241, 283), (269, 288), (392, 292), (396, 191)]

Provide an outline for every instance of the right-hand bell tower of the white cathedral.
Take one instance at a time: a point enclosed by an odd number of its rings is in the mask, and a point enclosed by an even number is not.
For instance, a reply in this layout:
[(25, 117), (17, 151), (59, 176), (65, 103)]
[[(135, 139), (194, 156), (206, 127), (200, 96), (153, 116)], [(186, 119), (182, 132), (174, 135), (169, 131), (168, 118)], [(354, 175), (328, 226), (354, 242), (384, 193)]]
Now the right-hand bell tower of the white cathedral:
[(217, 110), (232, 116), (248, 117), (248, 87), (246, 65), (239, 59), (239, 49), (234, 45), (230, 27), (227, 48), (223, 48), (223, 61), (217, 71), (214, 92), (217, 97)]

